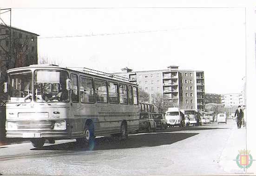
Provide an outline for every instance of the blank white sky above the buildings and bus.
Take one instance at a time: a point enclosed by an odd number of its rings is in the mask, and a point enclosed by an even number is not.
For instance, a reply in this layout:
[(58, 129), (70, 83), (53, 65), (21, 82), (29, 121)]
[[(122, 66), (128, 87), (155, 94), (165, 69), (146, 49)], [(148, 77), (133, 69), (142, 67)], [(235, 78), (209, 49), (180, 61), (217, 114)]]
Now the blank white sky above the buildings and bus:
[(141, 71), (178, 65), (179, 69), (203, 70), (206, 93), (242, 90), (246, 56), (242, 6), (169, 3), (159, 6), (210, 8), (150, 8), (157, 6), (17, 2), (6, 1), (1, 7), (12, 8), (12, 25), (39, 34), (39, 56), (61, 66), (119, 72), (124, 67)]

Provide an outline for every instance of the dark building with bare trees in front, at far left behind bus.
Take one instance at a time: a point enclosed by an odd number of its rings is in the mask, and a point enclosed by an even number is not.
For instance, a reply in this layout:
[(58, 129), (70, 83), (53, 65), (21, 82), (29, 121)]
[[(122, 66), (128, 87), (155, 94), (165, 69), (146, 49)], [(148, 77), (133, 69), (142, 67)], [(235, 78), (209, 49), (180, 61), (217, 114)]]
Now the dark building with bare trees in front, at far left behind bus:
[(0, 24), (0, 82), (6, 80), (7, 69), (37, 64), (39, 35)]

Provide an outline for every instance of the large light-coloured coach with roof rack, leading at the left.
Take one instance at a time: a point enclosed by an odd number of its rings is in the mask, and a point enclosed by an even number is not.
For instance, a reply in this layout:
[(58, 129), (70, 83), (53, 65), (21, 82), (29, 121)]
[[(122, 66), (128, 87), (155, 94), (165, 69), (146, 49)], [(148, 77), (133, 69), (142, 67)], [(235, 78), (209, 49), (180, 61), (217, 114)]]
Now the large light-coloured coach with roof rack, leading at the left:
[(34, 147), (46, 139), (76, 139), (88, 146), (96, 136), (126, 139), (138, 131), (138, 85), (93, 69), (38, 64), (7, 70), (6, 137)]

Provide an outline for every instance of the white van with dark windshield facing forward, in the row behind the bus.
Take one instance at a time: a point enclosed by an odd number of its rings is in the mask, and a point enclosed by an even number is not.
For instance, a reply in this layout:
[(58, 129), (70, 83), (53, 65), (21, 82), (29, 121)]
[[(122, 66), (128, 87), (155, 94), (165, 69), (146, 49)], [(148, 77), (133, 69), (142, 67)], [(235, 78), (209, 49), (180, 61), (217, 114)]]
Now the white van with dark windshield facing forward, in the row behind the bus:
[(167, 126), (183, 126), (182, 114), (177, 107), (169, 107), (165, 112)]

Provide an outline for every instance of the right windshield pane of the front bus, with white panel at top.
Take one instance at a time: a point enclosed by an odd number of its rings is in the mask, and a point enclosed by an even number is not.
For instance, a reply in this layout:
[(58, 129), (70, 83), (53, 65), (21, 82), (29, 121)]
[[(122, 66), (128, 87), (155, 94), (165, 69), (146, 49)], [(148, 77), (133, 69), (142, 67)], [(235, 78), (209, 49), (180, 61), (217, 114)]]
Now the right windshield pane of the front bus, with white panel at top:
[(53, 69), (38, 69), (34, 75), (34, 100), (42, 101), (69, 101), (69, 92), (66, 90), (66, 71)]

